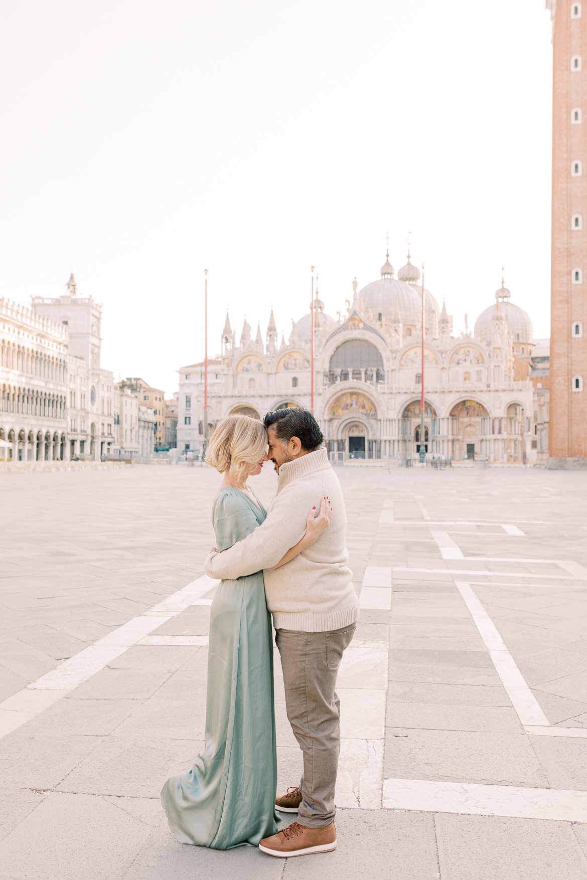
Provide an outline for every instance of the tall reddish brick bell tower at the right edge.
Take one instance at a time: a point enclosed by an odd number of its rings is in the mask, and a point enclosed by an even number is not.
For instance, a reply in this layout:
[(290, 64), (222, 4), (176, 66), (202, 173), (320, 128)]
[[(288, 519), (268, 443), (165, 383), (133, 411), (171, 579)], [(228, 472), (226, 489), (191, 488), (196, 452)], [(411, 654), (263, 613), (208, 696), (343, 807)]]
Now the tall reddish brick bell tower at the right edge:
[(587, 0), (554, 23), (549, 467), (587, 466)]

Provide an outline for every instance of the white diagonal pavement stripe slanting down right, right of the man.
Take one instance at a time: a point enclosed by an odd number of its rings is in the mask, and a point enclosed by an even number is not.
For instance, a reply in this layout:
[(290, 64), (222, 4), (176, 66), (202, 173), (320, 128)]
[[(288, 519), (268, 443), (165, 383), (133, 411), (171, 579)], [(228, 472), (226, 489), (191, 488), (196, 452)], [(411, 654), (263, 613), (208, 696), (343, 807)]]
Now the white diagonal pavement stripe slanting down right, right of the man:
[(550, 722), (547, 716), (540, 708), (538, 700), (536, 700), (530, 687), (526, 684), (524, 676), (517, 668), (510, 651), (506, 648), (502, 636), (497, 632), (493, 620), (491, 620), (488, 612), (485, 611), (483, 605), (481, 605), (481, 602), (473, 593), (470, 584), (457, 581), (456, 587), (471, 613), (481, 639), (487, 646), (489, 656), (495, 666), (495, 671), (502, 679), (503, 687), (510, 697), (511, 705), (516, 709), (520, 722), (539, 727), (549, 727)]

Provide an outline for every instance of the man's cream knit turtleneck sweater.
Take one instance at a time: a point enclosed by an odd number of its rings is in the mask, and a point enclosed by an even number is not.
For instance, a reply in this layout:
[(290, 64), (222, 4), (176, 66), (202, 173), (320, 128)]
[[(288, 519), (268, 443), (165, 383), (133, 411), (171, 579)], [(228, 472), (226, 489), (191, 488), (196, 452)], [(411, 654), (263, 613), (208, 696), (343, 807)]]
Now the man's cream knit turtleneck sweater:
[(274, 566), (304, 536), (308, 514), (314, 505), (319, 509), (323, 495), (333, 506), (327, 531), (287, 565), (263, 572), (275, 629), (322, 633), (358, 619), (345, 546), (347, 514), (341, 484), (325, 449), (282, 465), (265, 522), (223, 553), (210, 554), (204, 563), (207, 575), (225, 580)]

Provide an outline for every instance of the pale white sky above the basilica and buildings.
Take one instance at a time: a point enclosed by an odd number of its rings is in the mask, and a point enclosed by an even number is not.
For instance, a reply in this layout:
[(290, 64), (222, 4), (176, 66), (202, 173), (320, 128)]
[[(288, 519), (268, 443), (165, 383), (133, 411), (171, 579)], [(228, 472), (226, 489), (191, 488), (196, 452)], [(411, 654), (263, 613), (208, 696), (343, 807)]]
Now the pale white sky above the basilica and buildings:
[(549, 334), (544, 0), (0, 0), (0, 297), (104, 305), (102, 366), (171, 395), (229, 306), (263, 336), (397, 270), (462, 329), (501, 281)]

